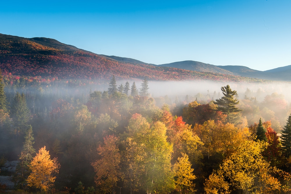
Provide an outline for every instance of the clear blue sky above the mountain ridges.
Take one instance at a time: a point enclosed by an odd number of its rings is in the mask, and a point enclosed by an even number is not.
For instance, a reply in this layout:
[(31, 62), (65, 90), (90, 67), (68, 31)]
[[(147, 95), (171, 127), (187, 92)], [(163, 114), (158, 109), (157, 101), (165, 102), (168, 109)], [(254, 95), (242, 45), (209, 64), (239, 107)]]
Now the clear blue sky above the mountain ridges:
[(1, 1), (0, 33), (152, 64), (291, 65), (290, 0)]

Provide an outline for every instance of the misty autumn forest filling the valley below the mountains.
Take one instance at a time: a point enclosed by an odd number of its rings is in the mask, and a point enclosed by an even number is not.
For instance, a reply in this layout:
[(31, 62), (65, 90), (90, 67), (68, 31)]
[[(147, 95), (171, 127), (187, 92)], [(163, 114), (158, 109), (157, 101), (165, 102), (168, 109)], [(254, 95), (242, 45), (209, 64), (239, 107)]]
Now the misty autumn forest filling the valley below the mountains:
[(150, 94), (146, 78), (0, 80), (0, 177), (14, 183), (2, 193), (291, 192), (281, 93), (231, 82), (174, 99)]

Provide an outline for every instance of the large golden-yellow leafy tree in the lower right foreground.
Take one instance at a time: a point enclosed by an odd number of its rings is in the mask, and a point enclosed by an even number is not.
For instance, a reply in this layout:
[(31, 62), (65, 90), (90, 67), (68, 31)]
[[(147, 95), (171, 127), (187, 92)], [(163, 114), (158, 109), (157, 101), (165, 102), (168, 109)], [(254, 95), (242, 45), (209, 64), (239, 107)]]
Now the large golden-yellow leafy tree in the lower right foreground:
[[(261, 155), (265, 146), (265, 142), (252, 140), (239, 145), (237, 150), (223, 162), (219, 170), (213, 172), (206, 181), (206, 193), (215, 193), (208, 190), (211, 187), (213, 191), (225, 190), (225, 193), (231, 191), (228, 188), (237, 189), (242, 193), (280, 192), (280, 182), (273, 177), (272, 168)], [(218, 182), (222, 184), (217, 184)]]

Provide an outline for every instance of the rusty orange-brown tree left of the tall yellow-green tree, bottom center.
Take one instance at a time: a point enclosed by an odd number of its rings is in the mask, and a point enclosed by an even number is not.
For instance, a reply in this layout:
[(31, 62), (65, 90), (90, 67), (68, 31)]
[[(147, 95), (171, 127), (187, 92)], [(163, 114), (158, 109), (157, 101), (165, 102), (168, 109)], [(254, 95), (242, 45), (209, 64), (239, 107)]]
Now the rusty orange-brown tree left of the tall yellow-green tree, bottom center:
[(116, 145), (117, 141), (118, 138), (113, 135), (104, 137), (104, 145), (97, 148), (101, 159), (92, 163), (96, 173), (95, 183), (96, 186), (100, 186), (102, 193), (110, 191), (114, 194), (116, 184), (121, 177), (121, 156)]

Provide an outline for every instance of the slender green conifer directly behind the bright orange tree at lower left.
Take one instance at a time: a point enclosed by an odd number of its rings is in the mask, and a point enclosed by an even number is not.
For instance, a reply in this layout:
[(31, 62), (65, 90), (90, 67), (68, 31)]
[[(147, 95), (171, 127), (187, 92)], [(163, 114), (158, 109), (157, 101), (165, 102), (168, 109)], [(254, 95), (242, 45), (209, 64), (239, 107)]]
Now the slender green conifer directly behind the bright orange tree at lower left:
[(32, 154), (35, 153), (33, 148), (33, 131), (32, 126), (29, 125), (26, 130), (26, 135), (24, 136), (23, 149), (18, 158), (19, 163), (16, 166), (15, 174), (13, 176), (13, 181), (16, 185), (16, 188), (25, 189), (27, 186), (26, 179), (30, 174), (29, 164), (31, 163)]

